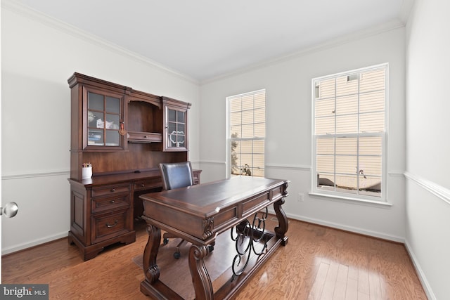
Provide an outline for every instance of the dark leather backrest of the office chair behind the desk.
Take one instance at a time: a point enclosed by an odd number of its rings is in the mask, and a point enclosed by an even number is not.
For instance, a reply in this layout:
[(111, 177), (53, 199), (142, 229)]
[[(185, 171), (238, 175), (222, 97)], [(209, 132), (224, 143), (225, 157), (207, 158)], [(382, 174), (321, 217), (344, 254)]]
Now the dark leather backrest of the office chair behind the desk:
[(172, 190), (194, 184), (191, 162), (171, 162), (160, 164), (162, 188)]

